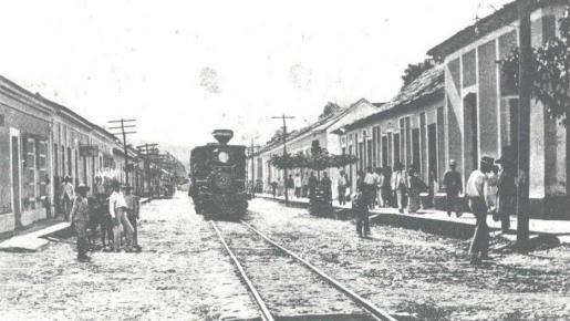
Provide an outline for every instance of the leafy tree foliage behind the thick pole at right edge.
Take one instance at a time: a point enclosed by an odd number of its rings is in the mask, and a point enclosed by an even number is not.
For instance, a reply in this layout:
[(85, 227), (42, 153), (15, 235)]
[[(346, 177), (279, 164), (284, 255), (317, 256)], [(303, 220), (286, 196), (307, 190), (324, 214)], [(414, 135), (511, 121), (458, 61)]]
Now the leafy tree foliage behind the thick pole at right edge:
[[(532, 90), (531, 96), (541, 102), (548, 114), (560, 121), (566, 127), (566, 188), (570, 195), (570, 131), (568, 131), (568, 111), (570, 110), (570, 9), (560, 19), (560, 37), (549, 40), (532, 52)], [(501, 73), (509, 90), (519, 87), (519, 53), (515, 48), (500, 61)]]

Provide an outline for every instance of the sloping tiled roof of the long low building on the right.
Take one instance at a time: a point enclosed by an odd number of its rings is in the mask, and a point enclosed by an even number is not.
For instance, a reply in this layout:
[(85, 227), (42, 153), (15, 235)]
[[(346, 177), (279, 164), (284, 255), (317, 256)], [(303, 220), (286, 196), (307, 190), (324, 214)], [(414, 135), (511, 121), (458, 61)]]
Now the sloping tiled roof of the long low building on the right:
[(404, 86), (392, 101), (382, 104), (376, 113), (360, 118), (344, 126), (344, 128), (350, 131), (381, 120), (386, 116), (388, 112), (404, 112), (417, 106), (426, 100), (443, 97), (444, 82), (444, 69), (442, 65), (436, 65)]

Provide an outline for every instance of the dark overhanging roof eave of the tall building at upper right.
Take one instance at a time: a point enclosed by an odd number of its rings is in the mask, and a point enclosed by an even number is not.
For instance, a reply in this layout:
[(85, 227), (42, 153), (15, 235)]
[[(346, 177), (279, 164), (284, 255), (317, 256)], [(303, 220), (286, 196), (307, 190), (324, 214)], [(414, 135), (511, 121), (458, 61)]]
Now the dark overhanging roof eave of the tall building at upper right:
[[(505, 4), (494, 13), (480, 19), (477, 24), (469, 25), (459, 32), (455, 33), (444, 42), (432, 48), (427, 54), (437, 58), (445, 58), (446, 55), (462, 49), (463, 46), (487, 35), (488, 33), (511, 24), (518, 19), (518, 6), (517, 1)], [(535, 9), (556, 6), (567, 4), (568, 0), (537, 0), (533, 1)]]

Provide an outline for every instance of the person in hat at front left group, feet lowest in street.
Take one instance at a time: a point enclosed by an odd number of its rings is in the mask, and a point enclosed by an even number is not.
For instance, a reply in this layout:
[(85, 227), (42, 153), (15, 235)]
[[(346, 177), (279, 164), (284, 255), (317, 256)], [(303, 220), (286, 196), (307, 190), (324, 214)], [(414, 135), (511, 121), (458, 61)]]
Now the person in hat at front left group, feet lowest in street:
[(77, 260), (85, 262), (91, 260), (87, 256), (89, 240), (87, 240), (87, 227), (90, 222), (89, 217), (89, 201), (87, 201), (89, 187), (80, 185), (77, 187), (77, 197), (73, 200), (73, 207), (71, 209), (71, 221), (77, 234)]

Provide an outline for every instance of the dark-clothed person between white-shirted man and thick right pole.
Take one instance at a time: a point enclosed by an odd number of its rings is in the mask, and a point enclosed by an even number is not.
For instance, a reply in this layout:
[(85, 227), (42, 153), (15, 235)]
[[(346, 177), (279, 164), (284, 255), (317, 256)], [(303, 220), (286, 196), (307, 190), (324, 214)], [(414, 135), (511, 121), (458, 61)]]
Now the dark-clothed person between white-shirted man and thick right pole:
[(515, 184), (515, 157), (510, 149), (505, 148), (502, 155), (497, 159), (500, 165), (499, 179), (497, 182), (497, 216), (500, 219), (500, 229), (508, 232), (510, 229), (510, 216), (515, 215), (517, 208), (517, 185)]

